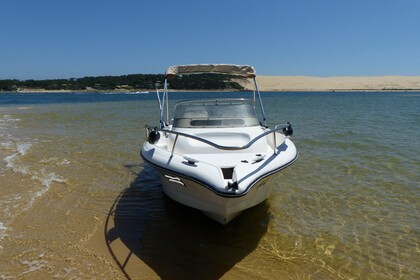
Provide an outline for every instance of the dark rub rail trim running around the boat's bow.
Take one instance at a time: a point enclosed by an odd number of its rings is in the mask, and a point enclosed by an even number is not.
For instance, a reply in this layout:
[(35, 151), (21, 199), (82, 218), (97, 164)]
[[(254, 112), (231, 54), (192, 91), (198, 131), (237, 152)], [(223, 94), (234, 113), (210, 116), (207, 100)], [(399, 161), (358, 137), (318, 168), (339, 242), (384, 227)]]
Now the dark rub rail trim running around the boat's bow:
[(161, 167), (161, 166), (159, 166), (157, 164), (152, 163), (150, 160), (146, 159), (143, 156), (143, 154), (141, 153), (141, 151), (140, 151), (140, 156), (143, 158), (143, 160), (145, 160), (147, 163), (153, 165), (155, 168), (157, 168), (159, 170), (162, 170), (162, 171), (164, 171), (166, 173), (169, 173), (171, 175), (179, 176), (179, 177), (185, 178), (186, 180), (194, 181), (195, 183), (197, 183), (197, 184), (199, 184), (199, 185), (201, 185), (201, 186), (209, 189), (210, 191), (212, 191), (214, 194), (216, 194), (218, 196), (228, 197), (228, 198), (236, 198), (236, 197), (245, 196), (251, 190), (251, 188), (253, 186), (255, 186), (259, 181), (265, 179), (266, 177), (269, 177), (271, 175), (274, 175), (275, 173), (280, 172), (281, 170), (283, 170), (283, 169), (289, 167), (290, 165), (292, 165), (298, 159), (299, 153), (296, 153), (296, 156), (295, 156), (295, 158), (292, 161), (288, 162), (287, 164), (285, 164), (285, 165), (283, 165), (283, 166), (281, 166), (281, 167), (279, 167), (279, 168), (277, 168), (277, 169), (275, 169), (273, 171), (267, 172), (267, 173), (263, 174), (262, 176), (260, 176), (259, 178), (257, 178), (256, 180), (254, 180), (251, 184), (248, 185), (248, 187), (245, 189), (245, 191), (243, 191), (243, 192), (241, 192), (239, 194), (238, 193), (225, 193), (225, 192), (217, 191), (214, 187), (205, 184), (204, 182), (200, 181), (197, 178), (190, 177), (190, 176), (185, 176), (182, 173), (174, 172), (173, 170), (163, 168), (163, 167)]

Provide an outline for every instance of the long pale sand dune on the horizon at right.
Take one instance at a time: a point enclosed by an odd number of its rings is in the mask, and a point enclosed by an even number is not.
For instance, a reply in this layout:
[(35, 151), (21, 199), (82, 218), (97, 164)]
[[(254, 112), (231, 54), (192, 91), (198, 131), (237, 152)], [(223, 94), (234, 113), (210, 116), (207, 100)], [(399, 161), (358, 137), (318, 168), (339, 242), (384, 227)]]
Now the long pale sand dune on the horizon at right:
[[(420, 76), (309, 77), (257, 76), (261, 91), (420, 90)], [(240, 82), (252, 89), (251, 82)]]

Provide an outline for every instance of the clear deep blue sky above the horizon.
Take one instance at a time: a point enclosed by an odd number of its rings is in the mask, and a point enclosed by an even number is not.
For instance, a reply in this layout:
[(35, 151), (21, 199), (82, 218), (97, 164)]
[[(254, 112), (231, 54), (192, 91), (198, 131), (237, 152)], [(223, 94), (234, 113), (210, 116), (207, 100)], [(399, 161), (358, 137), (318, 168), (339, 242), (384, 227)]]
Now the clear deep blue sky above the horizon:
[(0, 79), (251, 64), (259, 75), (420, 75), (418, 0), (0, 0)]

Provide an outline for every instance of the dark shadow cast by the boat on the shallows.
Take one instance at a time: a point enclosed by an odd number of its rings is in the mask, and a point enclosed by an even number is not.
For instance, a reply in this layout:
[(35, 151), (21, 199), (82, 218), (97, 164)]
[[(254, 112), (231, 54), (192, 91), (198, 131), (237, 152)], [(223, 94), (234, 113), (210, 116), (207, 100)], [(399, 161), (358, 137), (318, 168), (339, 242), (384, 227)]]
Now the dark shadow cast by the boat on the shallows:
[(128, 279), (150, 277), (150, 272), (142, 275), (144, 264), (161, 279), (219, 279), (249, 255), (267, 231), (267, 202), (222, 226), (166, 197), (150, 165), (126, 167), (137, 176), (111, 206), (104, 234)]

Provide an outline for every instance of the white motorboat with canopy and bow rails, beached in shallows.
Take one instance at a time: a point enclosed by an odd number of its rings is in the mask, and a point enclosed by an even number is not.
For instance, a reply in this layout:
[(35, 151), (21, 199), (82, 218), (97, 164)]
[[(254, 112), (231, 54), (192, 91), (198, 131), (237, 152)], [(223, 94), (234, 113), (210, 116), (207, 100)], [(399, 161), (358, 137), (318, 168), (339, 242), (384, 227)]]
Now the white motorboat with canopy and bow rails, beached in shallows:
[[(253, 98), (178, 102), (171, 119), (168, 79), (196, 73), (252, 78)], [(159, 170), (166, 195), (221, 224), (267, 199), (267, 179), (298, 157), (290, 123), (267, 127), (255, 76), (249, 65), (171, 66), (162, 96), (157, 92), (159, 126), (146, 126), (141, 156)]]

